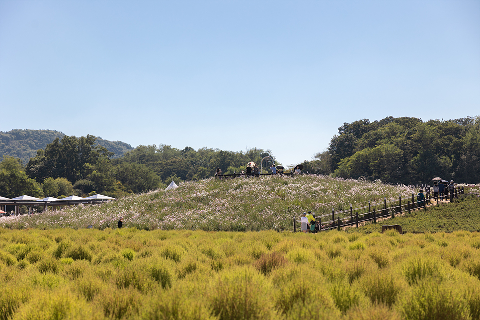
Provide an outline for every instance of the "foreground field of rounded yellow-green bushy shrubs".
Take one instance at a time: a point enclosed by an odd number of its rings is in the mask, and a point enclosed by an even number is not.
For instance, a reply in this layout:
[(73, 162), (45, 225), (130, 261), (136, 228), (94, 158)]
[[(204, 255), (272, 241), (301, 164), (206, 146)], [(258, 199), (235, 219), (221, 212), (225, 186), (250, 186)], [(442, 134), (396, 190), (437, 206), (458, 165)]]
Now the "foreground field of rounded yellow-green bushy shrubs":
[(0, 319), (480, 319), (480, 234), (0, 229)]

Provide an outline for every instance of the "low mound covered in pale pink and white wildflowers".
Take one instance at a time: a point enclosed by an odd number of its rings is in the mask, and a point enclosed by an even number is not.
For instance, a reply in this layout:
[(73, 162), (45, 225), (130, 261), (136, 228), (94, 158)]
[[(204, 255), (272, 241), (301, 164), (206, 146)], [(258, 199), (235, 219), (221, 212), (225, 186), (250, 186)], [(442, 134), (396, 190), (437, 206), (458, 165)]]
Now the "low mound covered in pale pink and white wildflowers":
[(380, 181), (340, 179), (322, 175), (264, 176), (180, 183), (174, 190), (154, 190), (101, 206), (75, 206), (34, 215), (0, 218), (4, 228), (82, 229), (125, 227), (141, 230), (288, 231), (293, 217), (317, 215), (411, 197), (418, 192)]

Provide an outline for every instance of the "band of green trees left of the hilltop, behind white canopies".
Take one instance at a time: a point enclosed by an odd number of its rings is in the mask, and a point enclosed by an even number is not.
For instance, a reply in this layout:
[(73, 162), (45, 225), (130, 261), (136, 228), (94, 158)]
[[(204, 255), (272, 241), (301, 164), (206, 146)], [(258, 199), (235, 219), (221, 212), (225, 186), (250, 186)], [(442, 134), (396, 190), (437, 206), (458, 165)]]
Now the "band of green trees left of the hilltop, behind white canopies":
[[(202, 148), (183, 150), (167, 145), (139, 146), (122, 157), (96, 143), (91, 135), (55, 138), (26, 165), (18, 158), (4, 156), (0, 162), (0, 194), (11, 198), (23, 194), (36, 197), (63, 197), (101, 193), (121, 197), (158, 187), (172, 180), (203, 179), (213, 176), (217, 166), (224, 173), (245, 170), (246, 163), (260, 163), (269, 150), (232, 152)], [(264, 163), (266, 164), (266, 163)]]

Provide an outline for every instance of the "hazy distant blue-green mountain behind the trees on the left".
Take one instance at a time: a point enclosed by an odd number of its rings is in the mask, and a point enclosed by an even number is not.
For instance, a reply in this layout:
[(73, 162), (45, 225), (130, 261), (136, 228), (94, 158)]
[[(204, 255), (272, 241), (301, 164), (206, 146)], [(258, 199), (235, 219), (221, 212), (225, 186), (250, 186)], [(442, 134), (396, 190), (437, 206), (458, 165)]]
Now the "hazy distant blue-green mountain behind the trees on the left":
[[(30, 158), (37, 155), (38, 149), (52, 143), (55, 138), (62, 139), (65, 134), (56, 130), (13, 129), (8, 132), (0, 131), (0, 160), (3, 156), (20, 158), (26, 164)], [(103, 140), (96, 137), (97, 144), (115, 153), (112, 158), (119, 158), (134, 148), (121, 141)]]

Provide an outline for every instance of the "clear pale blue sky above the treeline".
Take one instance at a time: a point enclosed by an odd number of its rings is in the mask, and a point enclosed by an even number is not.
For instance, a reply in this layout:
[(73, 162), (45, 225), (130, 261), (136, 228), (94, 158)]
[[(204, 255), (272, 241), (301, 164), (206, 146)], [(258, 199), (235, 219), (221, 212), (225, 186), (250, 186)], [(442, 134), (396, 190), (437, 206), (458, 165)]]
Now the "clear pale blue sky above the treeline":
[(480, 115), (480, 1), (0, 0), (0, 130), (270, 149)]

